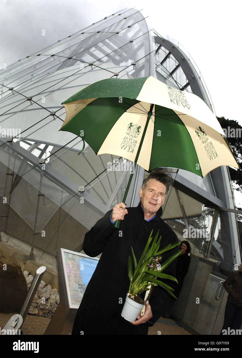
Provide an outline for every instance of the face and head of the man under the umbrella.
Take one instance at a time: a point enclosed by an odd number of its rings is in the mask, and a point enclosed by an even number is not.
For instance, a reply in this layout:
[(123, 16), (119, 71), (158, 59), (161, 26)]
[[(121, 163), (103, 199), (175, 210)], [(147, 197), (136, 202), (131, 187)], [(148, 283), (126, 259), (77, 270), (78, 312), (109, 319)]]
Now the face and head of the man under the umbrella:
[(141, 206), (144, 213), (156, 213), (166, 199), (166, 185), (155, 179), (149, 179), (144, 190), (139, 189)]

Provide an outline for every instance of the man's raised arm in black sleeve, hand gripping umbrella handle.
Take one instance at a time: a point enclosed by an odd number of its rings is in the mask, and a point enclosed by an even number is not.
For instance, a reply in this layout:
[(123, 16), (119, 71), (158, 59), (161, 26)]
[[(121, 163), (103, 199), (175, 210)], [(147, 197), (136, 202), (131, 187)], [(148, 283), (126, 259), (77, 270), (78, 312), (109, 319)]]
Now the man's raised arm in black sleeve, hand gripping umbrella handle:
[[(120, 206), (123, 205), (123, 209)], [(125, 209), (125, 204), (119, 203), (115, 205), (113, 210), (109, 210), (103, 218), (99, 219), (97, 223), (85, 234), (83, 242), (83, 251), (86, 255), (95, 257), (103, 252), (112, 233), (117, 230), (113, 222), (116, 220), (123, 220), (128, 213)], [(110, 218), (111, 216), (111, 218)]]

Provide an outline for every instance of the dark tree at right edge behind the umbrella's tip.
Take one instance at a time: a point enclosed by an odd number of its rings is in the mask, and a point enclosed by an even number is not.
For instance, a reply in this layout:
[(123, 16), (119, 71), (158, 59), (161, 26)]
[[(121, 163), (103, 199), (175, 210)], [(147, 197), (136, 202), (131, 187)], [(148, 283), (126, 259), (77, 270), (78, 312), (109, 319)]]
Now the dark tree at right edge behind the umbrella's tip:
[[(217, 120), (223, 128), (224, 134), (226, 135), (226, 139), (229, 142), (237, 163), (239, 164), (240, 168), (242, 168), (242, 127), (238, 124), (237, 121), (225, 119), (224, 117), (217, 117)], [(231, 176), (232, 182), (237, 184), (235, 189), (239, 192), (242, 192), (242, 170), (237, 170), (229, 166), (229, 174)]]

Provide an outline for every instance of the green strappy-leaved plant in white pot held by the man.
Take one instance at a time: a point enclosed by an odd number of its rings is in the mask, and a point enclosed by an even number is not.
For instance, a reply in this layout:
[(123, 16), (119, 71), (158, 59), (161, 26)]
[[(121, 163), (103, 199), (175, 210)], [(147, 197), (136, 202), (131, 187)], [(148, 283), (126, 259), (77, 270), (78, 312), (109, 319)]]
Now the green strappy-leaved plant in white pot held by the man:
[(138, 263), (131, 246), (134, 262), (134, 272), (131, 256), (128, 256), (128, 276), (130, 279), (130, 285), (121, 316), (130, 322), (134, 322), (136, 320), (140, 310), (143, 308), (145, 301), (140, 297), (140, 294), (149, 290), (150, 285), (159, 285), (167, 290), (173, 297), (177, 298), (172, 292), (174, 291), (172, 287), (165, 284), (161, 280), (157, 280), (157, 277), (177, 282), (175, 277), (163, 274), (162, 271), (166, 269), (166, 267), (169, 266), (170, 263), (181, 254), (182, 250), (169, 257), (168, 260), (162, 264), (160, 264), (160, 260), (162, 258), (160, 255), (163, 252), (172, 250), (174, 247), (178, 246), (179, 242), (173, 245), (169, 244), (159, 251), (161, 236), (158, 239), (158, 231), (152, 242), (152, 232), (153, 230), (150, 233), (147, 244), (145, 245), (144, 251), (140, 256)]

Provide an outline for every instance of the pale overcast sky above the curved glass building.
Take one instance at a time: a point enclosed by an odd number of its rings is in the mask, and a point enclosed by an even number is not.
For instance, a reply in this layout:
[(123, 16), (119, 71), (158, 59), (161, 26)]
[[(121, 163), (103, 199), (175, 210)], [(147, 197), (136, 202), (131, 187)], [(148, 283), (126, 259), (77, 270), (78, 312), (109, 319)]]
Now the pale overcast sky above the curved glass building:
[(242, 125), (238, 0), (0, 0), (0, 68), (105, 16), (135, 6), (143, 9), (142, 14), (149, 16), (147, 23), (159, 34), (176, 39), (192, 55), (207, 84), (216, 115)]

